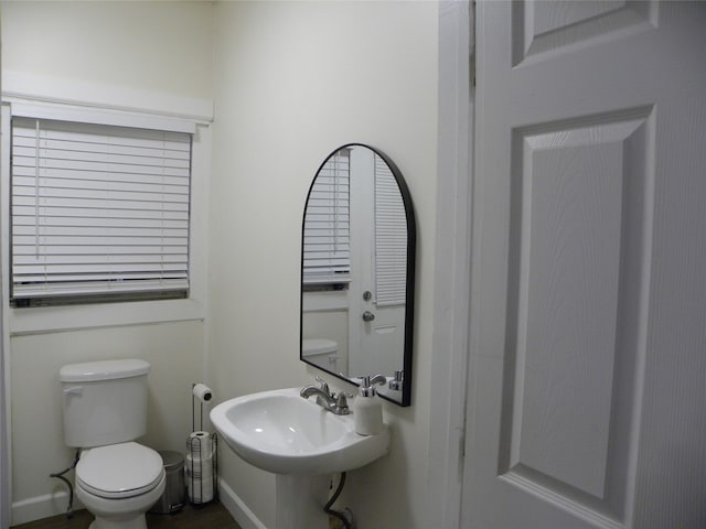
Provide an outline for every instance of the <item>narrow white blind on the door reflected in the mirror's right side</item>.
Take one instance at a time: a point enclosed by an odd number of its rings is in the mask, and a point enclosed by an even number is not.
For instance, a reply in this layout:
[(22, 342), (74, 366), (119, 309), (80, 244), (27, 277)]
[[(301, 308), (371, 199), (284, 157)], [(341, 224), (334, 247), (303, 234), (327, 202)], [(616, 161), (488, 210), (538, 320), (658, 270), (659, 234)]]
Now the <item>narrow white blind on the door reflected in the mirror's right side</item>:
[(404, 304), (407, 285), (407, 215), (397, 181), (375, 154), (375, 301)]

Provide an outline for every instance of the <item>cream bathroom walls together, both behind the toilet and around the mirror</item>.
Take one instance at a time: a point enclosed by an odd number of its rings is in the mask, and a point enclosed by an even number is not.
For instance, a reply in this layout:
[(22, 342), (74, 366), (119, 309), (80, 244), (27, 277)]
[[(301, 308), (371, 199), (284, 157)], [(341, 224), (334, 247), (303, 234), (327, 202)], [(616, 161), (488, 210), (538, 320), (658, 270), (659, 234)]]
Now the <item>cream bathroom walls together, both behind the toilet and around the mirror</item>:
[[(77, 317), (73, 328), (12, 336), (13, 523), (65, 508), (54, 494), (62, 485), (47, 477), (72, 455), (54, 397), (65, 363), (152, 363), (146, 441), (167, 449), (179, 449), (191, 430), (182, 388), (202, 369), (218, 400), (303, 386), (320, 374), (299, 361), (301, 215), (325, 155), (360, 141), (397, 163), (416, 207), (415, 376), (410, 408), (385, 403), (391, 454), (350, 473), (342, 503), (361, 528), (434, 527), (425, 498), (437, 9), (430, 1), (0, 3), (3, 89), (8, 74), (14, 86), (32, 82), (61, 97), (79, 83), (82, 95), (115, 96), (128, 107), (215, 100), (207, 324), (147, 319), (81, 328)], [(225, 446), (221, 456), (224, 500), (245, 528), (259, 520), (274, 529), (274, 476)]]

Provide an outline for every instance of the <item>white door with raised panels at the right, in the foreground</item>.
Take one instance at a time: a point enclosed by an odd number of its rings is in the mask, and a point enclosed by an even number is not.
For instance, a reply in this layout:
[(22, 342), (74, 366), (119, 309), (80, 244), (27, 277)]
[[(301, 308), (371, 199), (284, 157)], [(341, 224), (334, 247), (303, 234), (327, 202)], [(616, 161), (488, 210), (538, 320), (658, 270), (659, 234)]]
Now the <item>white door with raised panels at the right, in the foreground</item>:
[(706, 527), (706, 2), (478, 3), (462, 526)]

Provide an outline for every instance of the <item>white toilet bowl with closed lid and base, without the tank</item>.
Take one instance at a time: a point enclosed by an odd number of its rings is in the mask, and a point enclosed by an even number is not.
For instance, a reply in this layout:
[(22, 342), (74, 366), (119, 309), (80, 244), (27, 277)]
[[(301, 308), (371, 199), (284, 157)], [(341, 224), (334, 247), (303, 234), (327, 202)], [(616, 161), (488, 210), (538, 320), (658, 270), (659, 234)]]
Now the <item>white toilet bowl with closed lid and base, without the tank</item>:
[(159, 453), (135, 442), (85, 450), (76, 465), (76, 497), (96, 517), (89, 529), (147, 529), (165, 483)]

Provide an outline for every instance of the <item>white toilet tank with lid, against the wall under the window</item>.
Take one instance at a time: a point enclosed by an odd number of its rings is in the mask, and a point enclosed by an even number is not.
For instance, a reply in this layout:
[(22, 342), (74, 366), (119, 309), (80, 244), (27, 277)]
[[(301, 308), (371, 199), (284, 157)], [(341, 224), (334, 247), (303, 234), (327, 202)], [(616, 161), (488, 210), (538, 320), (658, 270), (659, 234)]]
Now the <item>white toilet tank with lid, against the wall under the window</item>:
[(145, 360), (71, 364), (60, 369), (64, 442), (90, 447), (124, 443), (147, 433)]

